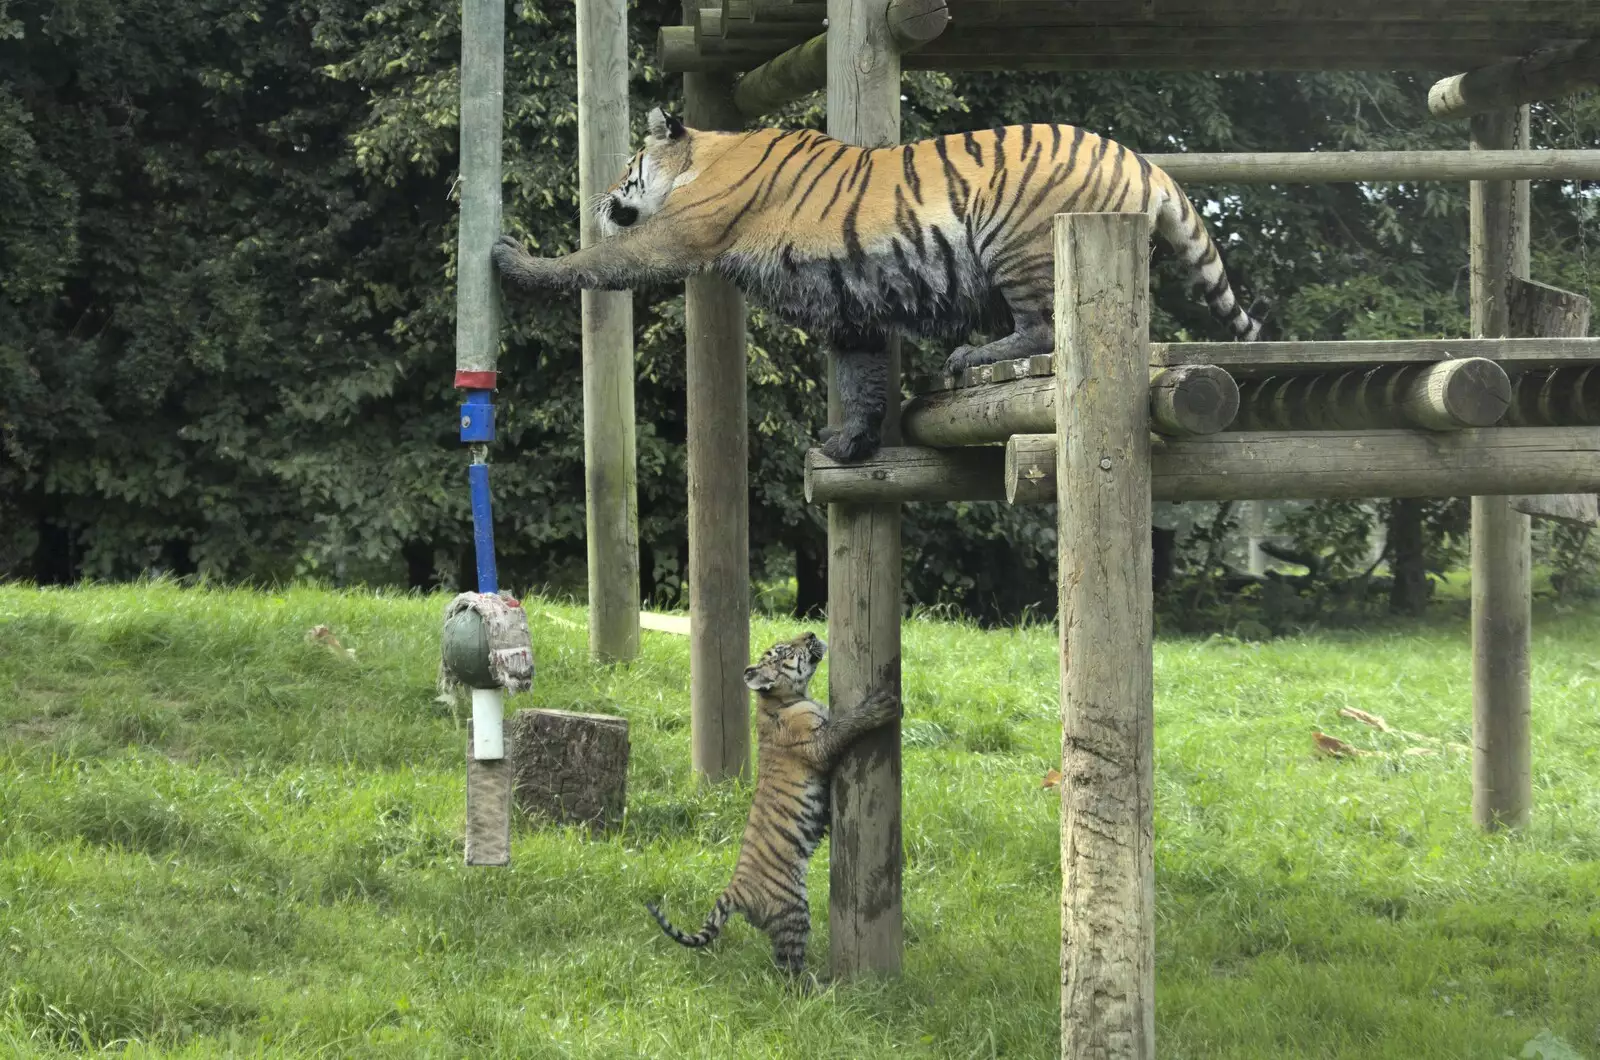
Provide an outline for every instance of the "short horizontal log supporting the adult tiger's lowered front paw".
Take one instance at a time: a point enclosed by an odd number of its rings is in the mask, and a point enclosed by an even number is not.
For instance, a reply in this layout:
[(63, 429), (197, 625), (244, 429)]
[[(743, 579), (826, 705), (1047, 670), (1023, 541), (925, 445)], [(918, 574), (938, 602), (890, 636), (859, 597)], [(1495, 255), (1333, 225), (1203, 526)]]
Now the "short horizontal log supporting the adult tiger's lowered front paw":
[[(902, 498), (923, 501), (1002, 501), (998, 445), (966, 448), (882, 448), (886, 461), (842, 464), (813, 448), (805, 455), (805, 500), (818, 504), (883, 504)], [(813, 493), (816, 500), (813, 501)]]

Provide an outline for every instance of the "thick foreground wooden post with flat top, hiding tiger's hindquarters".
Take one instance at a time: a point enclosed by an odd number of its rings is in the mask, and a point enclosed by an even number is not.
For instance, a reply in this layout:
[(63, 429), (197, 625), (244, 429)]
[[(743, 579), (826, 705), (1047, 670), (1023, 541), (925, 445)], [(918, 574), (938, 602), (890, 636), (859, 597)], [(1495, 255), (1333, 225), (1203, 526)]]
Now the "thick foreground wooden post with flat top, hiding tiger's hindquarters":
[(1061, 1055), (1155, 1057), (1150, 223), (1056, 218)]

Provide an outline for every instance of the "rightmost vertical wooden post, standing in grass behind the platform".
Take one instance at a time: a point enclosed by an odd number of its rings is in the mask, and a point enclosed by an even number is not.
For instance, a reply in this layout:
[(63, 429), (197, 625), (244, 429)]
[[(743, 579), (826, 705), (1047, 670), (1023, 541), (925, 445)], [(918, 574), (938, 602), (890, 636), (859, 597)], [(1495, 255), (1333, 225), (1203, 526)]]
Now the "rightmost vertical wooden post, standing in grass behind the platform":
[[(1472, 118), (1472, 147), (1528, 147), (1528, 107)], [(1472, 333), (1509, 331), (1512, 277), (1528, 275), (1528, 181), (1472, 181)], [(1509, 496), (1472, 498), (1472, 818), (1520, 828), (1533, 805), (1533, 552)]]

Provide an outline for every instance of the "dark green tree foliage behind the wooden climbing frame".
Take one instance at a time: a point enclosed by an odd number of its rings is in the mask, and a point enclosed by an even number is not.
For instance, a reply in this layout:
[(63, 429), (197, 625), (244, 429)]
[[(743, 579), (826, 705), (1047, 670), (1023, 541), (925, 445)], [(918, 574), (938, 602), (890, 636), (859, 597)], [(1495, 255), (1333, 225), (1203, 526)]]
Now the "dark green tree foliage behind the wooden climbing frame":
[[(678, 94), (650, 66), (678, 11), (635, 0), (630, 16), (642, 123)], [(462, 581), (456, 21), (456, 5), (418, 0), (0, 0), (0, 576)], [(573, 8), (522, 2), (507, 34), (507, 227), (557, 253), (576, 240)], [(1462, 146), (1459, 123), (1427, 120), (1427, 83), (915, 74), (904, 130), (1066, 120), (1146, 151)], [(1594, 146), (1594, 110), (1539, 110), (1536, 144)], [(821, 107), (784, 120), (819, 125)], [(1589, 290), (1600, 234), (1586, 200), (1536, 189), (1538, 275)], [(1272, 298), (1280, 335), (1466, 333), (1464, 187), (1189, 191), (1211, 203), (1246, 298)], [(637, 322), (642, 592), (674, 604), (682, 295), (638, 291)], [(1218, 338), (1165, 255), (1155, 331)], [(944, 352), (909, 351), (907, 389)], [(752, 559), (758, 575), (795, 575), (798, 608), (819, 599), (824, 556), (822, 516), (800, 495), (822, 362), (810, 336), (752, 314)], [(501, 367), (504, 578), (578, 589), (578, 301), (514, 303)], [(1328, 533), (1301, 536), (1349, 567), (1350, 541)], [(915, 602), (986, 618), (1054, 605), (1050, 509), (910, 508), (906, 549)]]

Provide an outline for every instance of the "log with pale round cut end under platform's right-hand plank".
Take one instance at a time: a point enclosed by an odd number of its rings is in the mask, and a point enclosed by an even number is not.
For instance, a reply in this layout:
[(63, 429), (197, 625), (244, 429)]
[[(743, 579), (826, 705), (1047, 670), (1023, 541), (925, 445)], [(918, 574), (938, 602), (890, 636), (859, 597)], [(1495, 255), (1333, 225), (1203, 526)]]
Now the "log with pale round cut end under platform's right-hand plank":
[(1384, 365), (1339, 375), (1246, 379), (1240, 431), (1491, 428), (1510, 405), (1510, 378), (1486, 357)]

